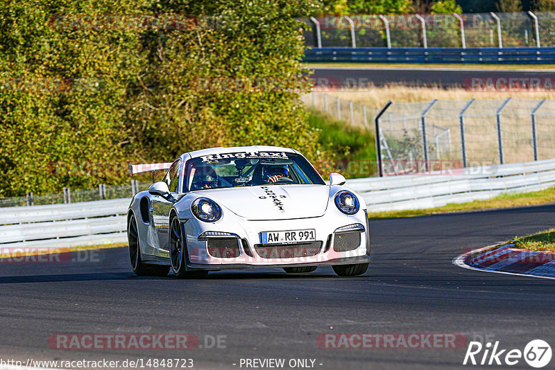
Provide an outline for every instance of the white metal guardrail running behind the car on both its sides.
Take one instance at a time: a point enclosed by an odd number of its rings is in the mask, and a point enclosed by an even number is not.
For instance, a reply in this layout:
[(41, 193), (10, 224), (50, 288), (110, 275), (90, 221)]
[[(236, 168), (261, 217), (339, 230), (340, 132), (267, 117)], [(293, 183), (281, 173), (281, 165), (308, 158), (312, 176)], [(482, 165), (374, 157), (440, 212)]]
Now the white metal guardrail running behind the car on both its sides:
[[(430, 208), (484, 200), (509, 191), (555, 186), (555, 159), (465, 168), (457, 175), (397, 175), (350, 179), (368, 211)], [(0, 251), (120, 243), (129, 199), (0, 209)]]

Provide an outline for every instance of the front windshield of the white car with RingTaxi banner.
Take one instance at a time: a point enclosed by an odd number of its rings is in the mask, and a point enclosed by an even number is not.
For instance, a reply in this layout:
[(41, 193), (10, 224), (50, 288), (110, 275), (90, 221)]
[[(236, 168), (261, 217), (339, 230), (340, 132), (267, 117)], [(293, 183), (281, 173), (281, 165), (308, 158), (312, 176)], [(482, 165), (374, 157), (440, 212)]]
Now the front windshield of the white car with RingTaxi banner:
[(230, 152), (187, 161), (185, 191), (237, 186), (325, 184), (309, 162), (289, 152)]

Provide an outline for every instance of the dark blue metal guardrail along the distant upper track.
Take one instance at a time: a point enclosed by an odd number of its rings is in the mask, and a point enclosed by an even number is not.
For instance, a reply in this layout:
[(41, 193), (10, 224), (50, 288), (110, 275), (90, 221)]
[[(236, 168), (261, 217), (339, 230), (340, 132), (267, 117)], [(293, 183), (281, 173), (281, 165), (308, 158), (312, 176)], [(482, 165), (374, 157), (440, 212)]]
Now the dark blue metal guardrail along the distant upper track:
[(391, 63), (555, 63), (555, 47), (511, 48), (348, 48), (323, 47), (305, 50), (304, 62)]

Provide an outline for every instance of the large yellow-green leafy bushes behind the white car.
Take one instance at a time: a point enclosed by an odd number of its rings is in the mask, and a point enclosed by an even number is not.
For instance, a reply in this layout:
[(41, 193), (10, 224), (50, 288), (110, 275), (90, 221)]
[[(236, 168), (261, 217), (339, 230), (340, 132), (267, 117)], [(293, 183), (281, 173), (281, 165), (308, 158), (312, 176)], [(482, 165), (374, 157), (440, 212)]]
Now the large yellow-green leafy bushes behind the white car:
[[(298, 100), (308, 88), (295, 20), (317, 9), (313, 0), (4, 4), (0, 196), (117, 184), (128, 161), (210, 146), (273, 144), (320, 158)], [(122, 15), (191, 17), (168, 28), (114, 23)]]

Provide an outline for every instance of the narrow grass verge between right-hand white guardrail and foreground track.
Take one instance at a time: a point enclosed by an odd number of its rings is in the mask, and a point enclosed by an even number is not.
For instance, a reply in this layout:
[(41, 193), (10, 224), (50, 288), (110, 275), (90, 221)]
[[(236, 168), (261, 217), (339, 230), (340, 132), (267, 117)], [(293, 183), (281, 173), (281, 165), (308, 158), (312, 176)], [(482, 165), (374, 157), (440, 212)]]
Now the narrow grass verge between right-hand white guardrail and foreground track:
[(436, 215), (439, 213), (454, 213), (464, 211), (484, 211), (487, 209), (502, 209), (517, 206), (533, 206), (555, 202), (555, 188), (530, 193), (505, 193), (488, 200), (475, 200), (474, 202), (447, 204), (445, 206), (414, 209), (407, 211), (386, 211), (369, 213), (371, 220), (385, 218), (415, 217), (420, 215)]

